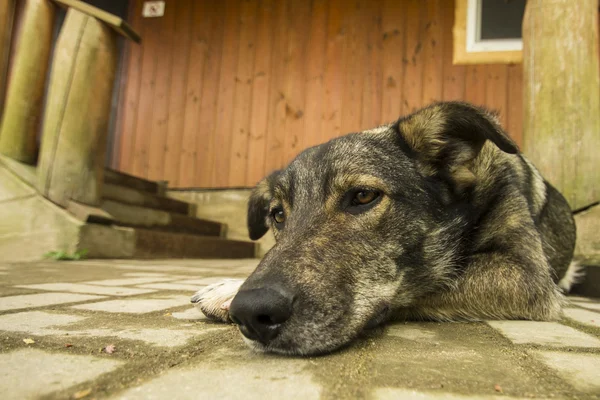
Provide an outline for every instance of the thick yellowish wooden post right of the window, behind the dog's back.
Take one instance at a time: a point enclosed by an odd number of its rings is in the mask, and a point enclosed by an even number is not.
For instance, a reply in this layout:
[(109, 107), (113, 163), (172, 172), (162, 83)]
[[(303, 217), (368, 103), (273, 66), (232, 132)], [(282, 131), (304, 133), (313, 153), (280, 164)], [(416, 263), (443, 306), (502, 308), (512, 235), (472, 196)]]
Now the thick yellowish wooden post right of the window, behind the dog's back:
[(524, 153), (573, 209), (600, 200), (598, 0), (529, 0)]

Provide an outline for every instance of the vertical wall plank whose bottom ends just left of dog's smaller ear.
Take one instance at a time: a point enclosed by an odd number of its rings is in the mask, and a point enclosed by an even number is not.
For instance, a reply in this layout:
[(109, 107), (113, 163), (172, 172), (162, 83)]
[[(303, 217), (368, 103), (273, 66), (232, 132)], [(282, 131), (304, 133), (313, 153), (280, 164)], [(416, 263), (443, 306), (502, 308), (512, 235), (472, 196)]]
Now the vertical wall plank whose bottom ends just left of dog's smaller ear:
[(252, 80), (256, 53), (256, 13), (258, 0), (243, 0), (240, 7), (240, 44), (235, 74), (233, 126), (229, 154), (229, 177), (226, 185), (243, 186), (248, 162), (248, 135), (252, 111)]

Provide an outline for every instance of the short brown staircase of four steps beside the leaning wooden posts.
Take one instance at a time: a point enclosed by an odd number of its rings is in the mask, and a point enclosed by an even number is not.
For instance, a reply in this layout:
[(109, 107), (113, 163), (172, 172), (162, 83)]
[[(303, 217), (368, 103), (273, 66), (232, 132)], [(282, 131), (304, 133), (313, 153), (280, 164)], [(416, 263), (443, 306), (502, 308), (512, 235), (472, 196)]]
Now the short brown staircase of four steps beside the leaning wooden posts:
[[(226, 239), (227, 226), (195, 218), (195, 205), (165, 196), (165, 186), (107, 169), (99, 209), (86, 223), (133, 230), (132, 258), (252, 258), (252, 242)], [(94, 212), (89, 212), (93, 209)], [(74, 207), (67, 210), (74, 216)], [(91, 219), (90, 219), (91, 218)]]

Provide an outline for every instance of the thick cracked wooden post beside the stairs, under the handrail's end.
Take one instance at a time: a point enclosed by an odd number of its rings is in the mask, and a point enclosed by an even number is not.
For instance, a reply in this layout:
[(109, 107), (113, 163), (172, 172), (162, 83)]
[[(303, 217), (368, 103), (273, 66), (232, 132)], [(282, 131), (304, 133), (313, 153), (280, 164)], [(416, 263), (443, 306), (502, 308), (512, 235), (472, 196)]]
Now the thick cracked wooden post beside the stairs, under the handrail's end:
[(75, 8), (61, 29), (44, 116), (38, 190), (67, 207), (100, 204), (116, 32)]

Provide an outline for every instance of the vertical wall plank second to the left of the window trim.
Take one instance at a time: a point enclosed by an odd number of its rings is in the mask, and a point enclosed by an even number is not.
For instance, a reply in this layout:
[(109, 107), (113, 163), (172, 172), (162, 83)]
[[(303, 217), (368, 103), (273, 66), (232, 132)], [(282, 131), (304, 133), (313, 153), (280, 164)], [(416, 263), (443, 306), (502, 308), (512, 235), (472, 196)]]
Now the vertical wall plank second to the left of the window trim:
[(423, 91), (421, 104), (426, 106), (442, 99), (444, 79), (443, 3), (425, 2), (426, 23), (423, 43)]

